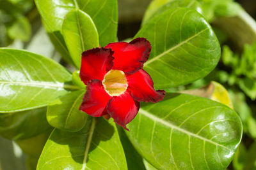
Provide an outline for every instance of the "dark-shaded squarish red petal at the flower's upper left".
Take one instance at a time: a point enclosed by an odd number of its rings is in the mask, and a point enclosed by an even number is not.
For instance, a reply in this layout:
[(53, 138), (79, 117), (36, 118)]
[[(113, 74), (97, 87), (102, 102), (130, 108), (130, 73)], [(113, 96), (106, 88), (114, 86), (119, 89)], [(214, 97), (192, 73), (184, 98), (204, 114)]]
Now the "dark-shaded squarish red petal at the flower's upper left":
[(113, 67), (113, 51), (108, 48), (93, 48), (82, 53), (80, 78), (85, 85), (90, 80), (102, 81)]

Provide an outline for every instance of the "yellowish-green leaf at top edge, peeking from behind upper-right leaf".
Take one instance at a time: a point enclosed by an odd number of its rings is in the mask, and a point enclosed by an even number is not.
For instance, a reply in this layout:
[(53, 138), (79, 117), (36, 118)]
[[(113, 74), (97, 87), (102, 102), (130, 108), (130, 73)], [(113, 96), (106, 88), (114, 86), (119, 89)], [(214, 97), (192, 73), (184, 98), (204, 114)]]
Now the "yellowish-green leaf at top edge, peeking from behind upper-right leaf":
[(143, 17), (142, 25), (145, 25), (149, 20), (163, 13), (166, 10), (177, 7), (186, 7), (194, 9), (201, 13), (200, 4), (196, 0), (154, 0), (150, 3)]

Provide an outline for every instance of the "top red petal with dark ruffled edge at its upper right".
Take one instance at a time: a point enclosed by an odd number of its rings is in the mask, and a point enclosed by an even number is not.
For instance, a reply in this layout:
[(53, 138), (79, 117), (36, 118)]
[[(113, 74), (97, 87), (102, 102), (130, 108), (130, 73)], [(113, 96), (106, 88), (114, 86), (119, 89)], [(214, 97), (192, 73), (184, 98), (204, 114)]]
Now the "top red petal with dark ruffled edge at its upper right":
[(106, 48), (114, 51), (113, 69), (122, 70), (127, 74), (133, 74), (141, 69), (151, 51), (151, 45), (145, 38), (136, 38), (130, 43), (110, 43)]

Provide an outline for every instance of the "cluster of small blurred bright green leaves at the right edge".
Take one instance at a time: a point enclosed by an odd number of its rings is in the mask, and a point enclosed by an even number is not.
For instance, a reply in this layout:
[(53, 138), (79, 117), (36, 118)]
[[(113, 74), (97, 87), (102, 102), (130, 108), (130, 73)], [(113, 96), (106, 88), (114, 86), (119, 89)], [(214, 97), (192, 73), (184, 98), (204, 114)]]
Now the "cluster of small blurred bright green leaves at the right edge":
[(245, 45), (241, 56), (232, 52), (228, 46), (223, 46), (222, 61), (232, 71), (229, 75), (225, 71), (221, 72), (221, 83), (238, 85), (254, 101), (256, 99), (256, 43)]

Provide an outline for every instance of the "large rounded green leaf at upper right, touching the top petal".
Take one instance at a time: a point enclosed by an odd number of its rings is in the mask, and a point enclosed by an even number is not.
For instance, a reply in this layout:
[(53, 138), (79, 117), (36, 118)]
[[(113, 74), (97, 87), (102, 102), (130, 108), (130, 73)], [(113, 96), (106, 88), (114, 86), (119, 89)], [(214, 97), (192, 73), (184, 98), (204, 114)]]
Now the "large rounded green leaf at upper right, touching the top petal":
[(211, 26), (195, 10), (175, 8), (150, 20), (136, 34), (150, 41), (145, 69), (156, 89), (185, 85), (209, 74), (220, 59)]

